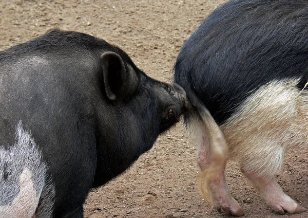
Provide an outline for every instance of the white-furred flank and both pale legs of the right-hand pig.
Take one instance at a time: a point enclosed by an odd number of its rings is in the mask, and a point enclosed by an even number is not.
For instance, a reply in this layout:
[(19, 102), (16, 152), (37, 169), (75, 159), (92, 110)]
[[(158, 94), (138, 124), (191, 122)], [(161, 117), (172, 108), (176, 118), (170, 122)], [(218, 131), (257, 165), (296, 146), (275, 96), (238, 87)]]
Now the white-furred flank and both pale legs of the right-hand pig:
[(197, 106), (199, 116), (190, 117), (188, 131), (198, 146), (198, 188), (216, 209), (244, 214), (224, 176), (230, 156), (239, 161), (243, 174), (275, 211), (306, 210), (275, 180), (285, 151), (291, 146), (306, 148), (308, 143), (308, 92), (299, 90), (298, 82), (284, 79), (261, 86), (219, 127), (204, 106)]

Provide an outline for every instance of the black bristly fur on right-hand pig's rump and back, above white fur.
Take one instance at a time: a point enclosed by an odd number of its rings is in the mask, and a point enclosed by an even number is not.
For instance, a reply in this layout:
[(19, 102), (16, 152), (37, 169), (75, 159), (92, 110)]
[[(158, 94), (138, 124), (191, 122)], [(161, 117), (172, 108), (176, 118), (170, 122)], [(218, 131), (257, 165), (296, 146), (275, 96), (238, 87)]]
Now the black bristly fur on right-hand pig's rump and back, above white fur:
[(260, 86), (308, 79), (308, 2), (231, 0), (185, 42), (175, 81), (188, 86), (222, 124)]

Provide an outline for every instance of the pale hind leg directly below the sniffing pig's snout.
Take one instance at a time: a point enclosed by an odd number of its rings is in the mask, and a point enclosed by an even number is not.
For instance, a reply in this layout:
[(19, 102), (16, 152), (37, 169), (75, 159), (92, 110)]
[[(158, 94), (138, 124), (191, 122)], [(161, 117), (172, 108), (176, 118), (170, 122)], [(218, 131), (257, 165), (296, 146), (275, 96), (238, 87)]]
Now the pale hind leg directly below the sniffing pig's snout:
[[(192, 118), (188, 130), (193, 131), (193, 139), (198, 144), (198, 189), (202, 196), (217, 210), (227, 215), (244, 214), (243, 209), (230, 195), (224, 176), (228, 148), (224, 137), (206, 108), (199, 110), (200, 117)], [(202, 114), (203, 113), (203, 114)]]

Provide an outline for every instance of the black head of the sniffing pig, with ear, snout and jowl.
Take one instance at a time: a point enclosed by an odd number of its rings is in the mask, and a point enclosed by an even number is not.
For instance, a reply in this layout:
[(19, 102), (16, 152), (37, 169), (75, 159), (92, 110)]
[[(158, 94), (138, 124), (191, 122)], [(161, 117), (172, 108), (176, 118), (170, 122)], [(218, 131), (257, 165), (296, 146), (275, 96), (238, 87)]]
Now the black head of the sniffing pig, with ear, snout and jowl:
[(127, 169), (189, 109), (179, 85), (146, 76), (121, 49), (101, 54), (100, 66), (106, 100), (99, 111), (98, 166), (110, 167), (97, 170), (94, 187)]

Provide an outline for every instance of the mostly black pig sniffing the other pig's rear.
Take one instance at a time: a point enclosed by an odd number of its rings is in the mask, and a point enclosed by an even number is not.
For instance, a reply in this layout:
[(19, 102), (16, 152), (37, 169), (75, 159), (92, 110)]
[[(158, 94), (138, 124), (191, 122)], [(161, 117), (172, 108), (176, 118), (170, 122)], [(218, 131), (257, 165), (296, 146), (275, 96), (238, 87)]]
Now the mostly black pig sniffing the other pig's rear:
[[(7, 164), (0, 178), (15, 176), (16, 190), (41, 193), (36, 218), (83, 217), (89, 190), (124, 172), (190, 105), (179, 85), (149, 78), (117, 46), (56, 29), (0, 51), (0, 84), (2, 150), (13, 150), (8, 144), (22, 121), (35, 141), (36, 159), (42, 154), (35, 166), (44, 175), (32, 176), (37, 172), (30, 163), (13, 174), (10, 161), (1, 159)], [(22, 205), (16, 199), (27, 201), (21, 196), (0, 201), (2, 211), (14, 209), (12, 202)]]

